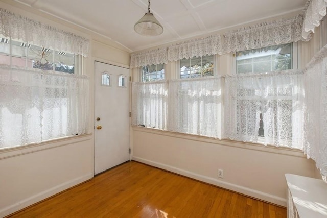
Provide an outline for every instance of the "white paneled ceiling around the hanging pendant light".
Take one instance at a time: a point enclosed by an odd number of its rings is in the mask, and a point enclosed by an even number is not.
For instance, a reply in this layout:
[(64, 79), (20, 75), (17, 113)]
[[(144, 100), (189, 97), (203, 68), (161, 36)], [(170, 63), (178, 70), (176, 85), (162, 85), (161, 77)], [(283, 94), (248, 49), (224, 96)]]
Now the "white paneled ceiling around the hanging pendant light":
[(148, 0), (15, 0), (99, 33), (130, 52), (209, 34), (259, 19), (301, 10), (307, 0), (152, 0), (151, 13), (164, 33), (134, 32)]

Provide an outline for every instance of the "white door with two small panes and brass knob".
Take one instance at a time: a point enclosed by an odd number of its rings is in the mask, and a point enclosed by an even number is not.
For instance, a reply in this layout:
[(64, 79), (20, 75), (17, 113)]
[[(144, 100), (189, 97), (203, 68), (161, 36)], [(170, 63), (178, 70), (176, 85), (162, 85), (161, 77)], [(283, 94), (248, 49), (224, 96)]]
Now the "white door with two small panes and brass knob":
[(95, 174), (129, 160), (129, 69), (95, 62)]

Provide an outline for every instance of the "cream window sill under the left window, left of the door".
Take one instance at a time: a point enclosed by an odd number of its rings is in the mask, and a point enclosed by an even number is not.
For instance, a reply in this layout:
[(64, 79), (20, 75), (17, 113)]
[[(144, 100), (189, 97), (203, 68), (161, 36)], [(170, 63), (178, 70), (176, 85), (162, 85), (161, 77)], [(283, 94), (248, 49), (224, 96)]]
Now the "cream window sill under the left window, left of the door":
[(31, 143), (26, 146), (16, 146), (11, 148), (0, 149), (0, 160), (10, 158), (18, 155), (24, 155), (28, 153), (38, 152), (42, 150), (52, 149), (56, 147), (66, 146), (68, 144), (78, 143), (91, 139), (91, 133), (83, 135), (72, 135), (61, 138), (55, 138), (43, 141), (41, 143)]

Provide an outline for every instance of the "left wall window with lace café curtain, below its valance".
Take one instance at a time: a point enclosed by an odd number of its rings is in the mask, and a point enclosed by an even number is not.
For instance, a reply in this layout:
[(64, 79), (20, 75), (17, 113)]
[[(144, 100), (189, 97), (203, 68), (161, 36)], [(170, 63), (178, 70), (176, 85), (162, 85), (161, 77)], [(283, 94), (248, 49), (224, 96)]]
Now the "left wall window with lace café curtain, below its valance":
[(75, 68), (74, 54), (0, 37), (0, 149), (87, 133), (81, 60)]

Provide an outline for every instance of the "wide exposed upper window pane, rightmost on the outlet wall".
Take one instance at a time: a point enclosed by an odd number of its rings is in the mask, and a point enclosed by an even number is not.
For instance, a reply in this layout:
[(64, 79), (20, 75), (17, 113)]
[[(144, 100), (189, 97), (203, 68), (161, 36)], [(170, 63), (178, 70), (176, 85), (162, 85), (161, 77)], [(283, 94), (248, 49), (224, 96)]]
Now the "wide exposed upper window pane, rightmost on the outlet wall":
[(236, 52), (236, 72), (271, 72), (293, 69), (293, 43)]

